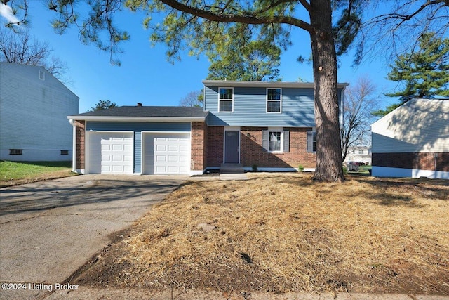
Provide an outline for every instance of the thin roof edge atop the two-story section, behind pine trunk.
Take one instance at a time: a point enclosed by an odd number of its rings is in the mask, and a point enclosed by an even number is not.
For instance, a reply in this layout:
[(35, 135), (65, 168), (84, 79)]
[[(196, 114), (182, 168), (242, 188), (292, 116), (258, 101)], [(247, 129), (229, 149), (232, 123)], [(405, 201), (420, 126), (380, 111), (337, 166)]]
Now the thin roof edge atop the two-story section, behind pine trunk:
[[(203, 80), (205, 86), (220, 86), (220, 87), (234, 87), (234, 86), (246, 86), (246, 87), (267, 87), (267, 88), (308, 88), (313, 89), (313, 82), (283, 82), (283, 81), (233, 81), (233, 80)], [(344, 89), (348, 86), (347, 83), (339, 83), (337, 86), (339, 89)]]

